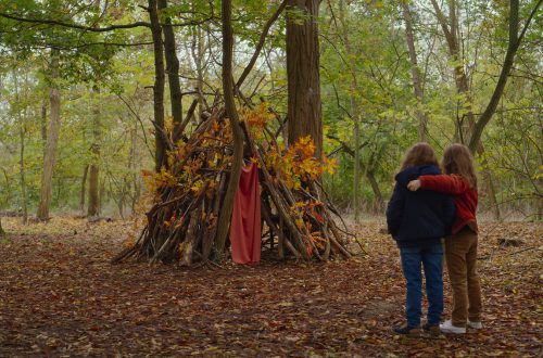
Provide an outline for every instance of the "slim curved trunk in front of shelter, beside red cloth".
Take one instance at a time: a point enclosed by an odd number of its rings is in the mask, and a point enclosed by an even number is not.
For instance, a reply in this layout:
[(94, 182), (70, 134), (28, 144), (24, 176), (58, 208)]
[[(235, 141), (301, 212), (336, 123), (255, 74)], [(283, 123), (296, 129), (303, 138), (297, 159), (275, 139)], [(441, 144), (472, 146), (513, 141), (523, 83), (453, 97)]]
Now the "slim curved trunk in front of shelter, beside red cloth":
[(243, 161), (243, 132), (241, 131), (236, 102), (233, 101), (232, 78), (232, 47), (233, 34), (231, 26), (231, 0), (223, 0), (223, 94), (225, 98), (226, 115), (230, 120), (233, 135), (233, 158), (226, 190), (225, 199), (218, 215), (216, 248), (219, 256), (225, 248), (226, 236), (230, 227), (230, 218), (233, 209), (233, 200), (238, 189)]

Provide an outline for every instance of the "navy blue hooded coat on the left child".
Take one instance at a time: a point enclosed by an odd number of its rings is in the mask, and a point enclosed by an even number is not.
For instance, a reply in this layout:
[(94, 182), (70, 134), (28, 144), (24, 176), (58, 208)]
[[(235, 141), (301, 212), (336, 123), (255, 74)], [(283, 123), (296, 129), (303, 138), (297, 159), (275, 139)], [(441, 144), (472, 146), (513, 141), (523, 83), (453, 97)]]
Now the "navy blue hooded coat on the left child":
[(389, 232), (400, 247), (420, 247), (440, 243), (451, 233), (456, 208), (452, 195), (407, 189), (419, 176), (441, 174), (434, 165), (409, 167), (400, 171), (394, 192), (387, 206)]

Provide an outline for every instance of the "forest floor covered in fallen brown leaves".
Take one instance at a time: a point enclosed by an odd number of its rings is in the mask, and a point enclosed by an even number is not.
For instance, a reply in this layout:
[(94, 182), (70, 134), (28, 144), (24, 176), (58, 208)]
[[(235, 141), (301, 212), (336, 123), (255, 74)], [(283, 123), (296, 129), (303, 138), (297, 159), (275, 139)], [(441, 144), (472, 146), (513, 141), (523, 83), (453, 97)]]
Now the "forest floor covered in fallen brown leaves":
[(542, 223), (481, 225), (483, 330), (409, 340), (391, 332), (404, 280), (379, 220), (354, 228), (368, 254), (348, 261), (214, 270), (110, 265), (127, 221), (17, 222), (2, 220), (1, 357), (543, 355)]

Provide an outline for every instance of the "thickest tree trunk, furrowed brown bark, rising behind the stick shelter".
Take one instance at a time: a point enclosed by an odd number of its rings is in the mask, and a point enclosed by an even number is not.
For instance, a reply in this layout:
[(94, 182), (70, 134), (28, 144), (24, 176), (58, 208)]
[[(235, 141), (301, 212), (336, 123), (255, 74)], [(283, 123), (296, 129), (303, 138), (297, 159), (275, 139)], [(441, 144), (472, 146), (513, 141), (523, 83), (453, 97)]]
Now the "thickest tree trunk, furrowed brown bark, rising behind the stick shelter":
[[(287, 76), (289, 144), (311, 136), (315, 154), (323, 152), (318, 5), (319, 0), (289, 0), (287, 15)], [(300, 18), (298, 14), (305, 15)]]

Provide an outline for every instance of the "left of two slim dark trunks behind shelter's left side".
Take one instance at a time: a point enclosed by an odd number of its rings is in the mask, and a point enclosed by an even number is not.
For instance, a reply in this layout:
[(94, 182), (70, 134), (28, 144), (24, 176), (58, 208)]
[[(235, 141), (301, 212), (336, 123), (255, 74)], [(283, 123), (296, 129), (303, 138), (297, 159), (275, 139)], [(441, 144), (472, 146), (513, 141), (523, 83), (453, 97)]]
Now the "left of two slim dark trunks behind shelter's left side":
[(149, 20), (151, 23), (154, 54), (154, 164), (156, 171), (159, 171), (165, 163), (166, 141), (164, 138), (164, 47), (162, 44), (162, 29), (159, 21), (156, 0), (149, 0)]

